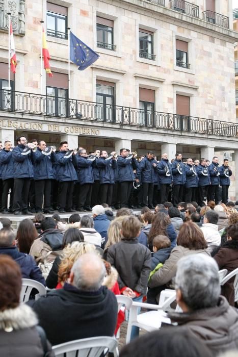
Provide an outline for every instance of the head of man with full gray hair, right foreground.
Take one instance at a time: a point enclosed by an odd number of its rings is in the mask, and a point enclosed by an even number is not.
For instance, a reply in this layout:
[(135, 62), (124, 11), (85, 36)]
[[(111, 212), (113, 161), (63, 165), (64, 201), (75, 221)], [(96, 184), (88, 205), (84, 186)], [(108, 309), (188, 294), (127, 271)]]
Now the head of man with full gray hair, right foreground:
[(176, 290), (189, 310), (216, 307), (221, 293), (218, 265), (205, 254), (191, 254), (177, 264)]

